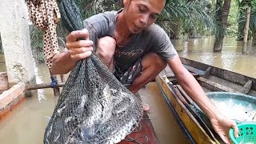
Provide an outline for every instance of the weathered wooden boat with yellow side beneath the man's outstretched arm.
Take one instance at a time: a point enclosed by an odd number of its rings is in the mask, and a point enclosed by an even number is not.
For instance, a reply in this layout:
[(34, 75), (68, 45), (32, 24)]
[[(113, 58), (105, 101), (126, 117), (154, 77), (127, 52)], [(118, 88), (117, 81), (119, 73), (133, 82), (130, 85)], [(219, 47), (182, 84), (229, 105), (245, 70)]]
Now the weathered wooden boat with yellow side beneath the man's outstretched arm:
[[(209, 66), (201, 62), (181, 58), (182, 64), (198, 80), (205, 92), (223, 91), (256, 96), (256, 79), (229, 70)], [(167, 83), (164, 75), (170, 81)], [(167, 80), (167, 81), (168, 81)], [(158, 87), (176, 121), (192, 143), (222, 143), (218, 134), (200, 117), (194, 108), (194, 102), (182, 87), (178, 85), (169, 66), (156, 78)]]

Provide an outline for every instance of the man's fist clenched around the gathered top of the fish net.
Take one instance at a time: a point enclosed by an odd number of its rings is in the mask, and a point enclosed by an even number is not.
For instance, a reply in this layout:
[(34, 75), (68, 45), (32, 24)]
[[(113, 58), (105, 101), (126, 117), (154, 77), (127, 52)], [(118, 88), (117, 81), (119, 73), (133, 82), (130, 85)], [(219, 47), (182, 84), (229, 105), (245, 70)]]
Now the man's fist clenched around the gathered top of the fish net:
[[(78, 40), (82, 38), (84, 40)], [(89, 32), (86, 29), (72, 31), (66, 37), (66, 47), (69, 50), (73, 62), (90, 57), (93, 50), (93, 42), (89, 40)]]

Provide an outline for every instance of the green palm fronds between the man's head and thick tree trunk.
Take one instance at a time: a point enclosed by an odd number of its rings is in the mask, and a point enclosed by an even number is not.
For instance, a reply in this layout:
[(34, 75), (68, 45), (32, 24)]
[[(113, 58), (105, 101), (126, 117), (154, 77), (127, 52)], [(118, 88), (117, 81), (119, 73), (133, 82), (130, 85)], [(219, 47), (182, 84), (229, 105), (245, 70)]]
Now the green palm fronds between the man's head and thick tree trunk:
[[(211, 30), (214, 29), (213, 19), (210, 17), (210, 2), (201, 1), (166, 1), (166, 6), (162, 10), (157, 23), (166, 27), (166, 22), (182, 22), (182, 28), (186, 30)], [(164, 22), (164, 23), (163, 23)], [(170, 31), (170, 30), (166, 30)]]

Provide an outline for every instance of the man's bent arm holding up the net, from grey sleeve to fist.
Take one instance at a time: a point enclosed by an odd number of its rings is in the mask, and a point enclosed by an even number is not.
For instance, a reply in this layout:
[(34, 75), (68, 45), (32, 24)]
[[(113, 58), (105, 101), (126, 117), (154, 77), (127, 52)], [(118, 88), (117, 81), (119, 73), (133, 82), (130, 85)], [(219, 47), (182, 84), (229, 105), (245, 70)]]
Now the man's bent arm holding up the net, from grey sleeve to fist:
[[(109, 31), (110, 26), (108, 22), (110, 16), (108, 16), (108, 14), (110, 13), (96, 14), (87, 18), (83, 22), (86, 29), (72, 31), (66, 37), (66, 48), (68, 51), (54, 55), (53, 64), (51, 66), (53, 74), (68, 73), (70, 70), (73, 70), (79, 60), (90, 56), (93, 47), (96, 50), (98, 38), (106, 36)], [(92, 23), (94, 23), (94, 25), (92, 25)], [(85, 40), (78, 41), (78, 39), (81, 38)]]

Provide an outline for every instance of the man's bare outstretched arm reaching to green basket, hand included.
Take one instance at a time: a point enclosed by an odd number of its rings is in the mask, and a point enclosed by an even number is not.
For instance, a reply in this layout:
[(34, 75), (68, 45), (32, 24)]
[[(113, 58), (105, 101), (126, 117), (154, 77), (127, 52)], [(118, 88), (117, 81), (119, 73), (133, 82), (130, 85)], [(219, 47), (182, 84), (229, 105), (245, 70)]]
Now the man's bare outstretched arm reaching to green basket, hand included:
[(230, 143), (228, 132), (231, 127), (234, 128), (235, 135), (238, 135), (238, 127), (236, 126), (236, 123), (222, 115), (217, 107), (214, 106), (193, 75), (190, 74), (190, 72), (182, 65), (178, 56), (167, 60), (167, 63), (170, 66), (170, 69), (173, 70), (178, 83), (186, 91), (186, 94), (188, 94), (190, 98), (198, 104), (208, 118), (210, 118), (210, 122), (214, 127), (214, 130), (224, 142)]

